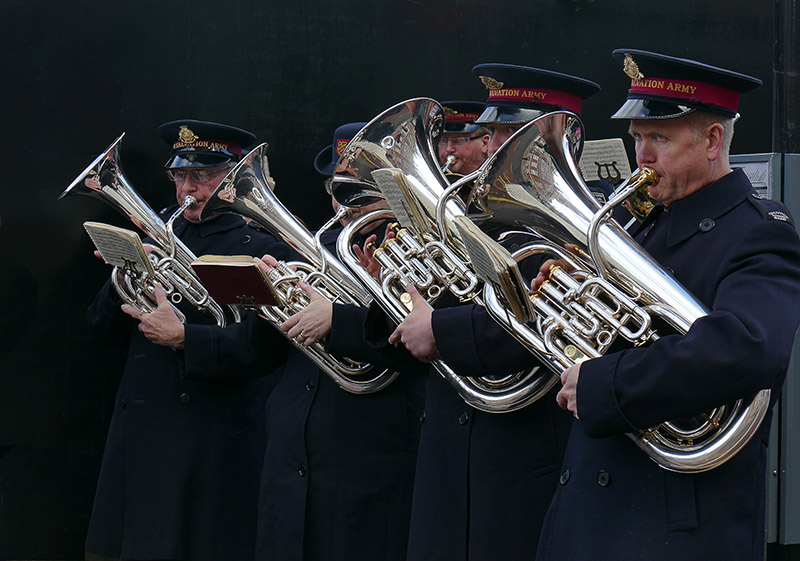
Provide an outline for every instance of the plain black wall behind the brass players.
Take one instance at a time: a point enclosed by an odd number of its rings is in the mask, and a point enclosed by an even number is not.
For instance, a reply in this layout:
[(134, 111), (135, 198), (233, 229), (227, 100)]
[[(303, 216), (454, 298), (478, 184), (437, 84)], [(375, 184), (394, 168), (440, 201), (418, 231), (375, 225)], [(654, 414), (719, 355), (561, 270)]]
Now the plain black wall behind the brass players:
[(159, 209), (174, 192), (162, 122), (191, 117), (270, 143), (277, 193), (314, 227), (330, 202), (312, 168), (340, 123), (410, 97), (484, 100), (480, 62), (597, 81), (588, 138), (628, 79), (617, 47), (698, 58), (764, 80), (741, 103), (734, 152), (771, 150), (768, 0), (4, 0), (0, 5), (0, 492), (10, 559), (78, 559), (120, 349), (93, 346), (84, 310), (108, 270), (84, 220), (127, 226), (61, 191), (121, 132), (122, 166)]

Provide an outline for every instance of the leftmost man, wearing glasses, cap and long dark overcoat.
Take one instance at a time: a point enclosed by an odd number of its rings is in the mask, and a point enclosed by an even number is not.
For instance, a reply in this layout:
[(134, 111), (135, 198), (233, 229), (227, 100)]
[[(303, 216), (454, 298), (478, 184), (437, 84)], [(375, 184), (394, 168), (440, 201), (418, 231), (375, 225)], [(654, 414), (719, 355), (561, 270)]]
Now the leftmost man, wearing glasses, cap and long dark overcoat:
[[(172, 148), (165, 167), (178, 202), (197, 199), (174, 222), (195, 255), (288, 257), (287, 246), (240, 216), (200, 220), (252, 133), (182, 120), (162, 125), (159, 135)], [(158, 308), (141, 313), (121, 305), (109, 281), (89, 308), (90, 330), (104, 345), (127, 345), (128, 357), (86, 550), (104, 558), (251, 561), (268, 393), (256, 350), (269, 346), (255, 340), (261, 330), (253, 315), (222, 328), (178, 304), (181, 322), (163, 290), (157, 295)]]

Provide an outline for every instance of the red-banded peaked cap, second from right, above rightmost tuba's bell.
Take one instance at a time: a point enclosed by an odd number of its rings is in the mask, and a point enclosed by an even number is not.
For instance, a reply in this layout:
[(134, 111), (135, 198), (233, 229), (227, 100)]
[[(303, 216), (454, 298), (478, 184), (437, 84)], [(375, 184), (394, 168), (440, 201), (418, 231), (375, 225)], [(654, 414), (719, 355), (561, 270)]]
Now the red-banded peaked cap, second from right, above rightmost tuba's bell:
[(583, 100), (600, 91), (591, 80), (516, 64), (478, 64), (472, 73), (489, 90), (475, 121), (482, 125), (518, 125), (562, 109), (580, 115)]

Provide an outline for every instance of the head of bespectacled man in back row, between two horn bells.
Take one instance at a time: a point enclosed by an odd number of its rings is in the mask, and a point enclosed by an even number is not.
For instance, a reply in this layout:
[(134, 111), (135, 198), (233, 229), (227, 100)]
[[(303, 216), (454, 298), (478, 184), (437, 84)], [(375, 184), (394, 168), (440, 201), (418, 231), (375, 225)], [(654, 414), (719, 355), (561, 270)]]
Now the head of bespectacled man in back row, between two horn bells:
[(475, 124), (484, 108), (477, 101), (445, 101), (445, 122), (439, 140), (439, 162), (445, 173), (467, 175), (486, 160), (489, 129)]

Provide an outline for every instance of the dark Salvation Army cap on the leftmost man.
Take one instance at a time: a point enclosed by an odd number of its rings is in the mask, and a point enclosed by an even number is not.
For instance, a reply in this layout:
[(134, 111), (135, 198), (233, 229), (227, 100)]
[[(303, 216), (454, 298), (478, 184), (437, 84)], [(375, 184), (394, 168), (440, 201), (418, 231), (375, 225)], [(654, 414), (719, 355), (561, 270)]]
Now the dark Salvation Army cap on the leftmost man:
[(256, 139), (244, 129), (195, 119), (164, 123), (158, 127), (158, 135), (172, 146), (166, 168), (211, 167), (238, 161), (242, 149)]

